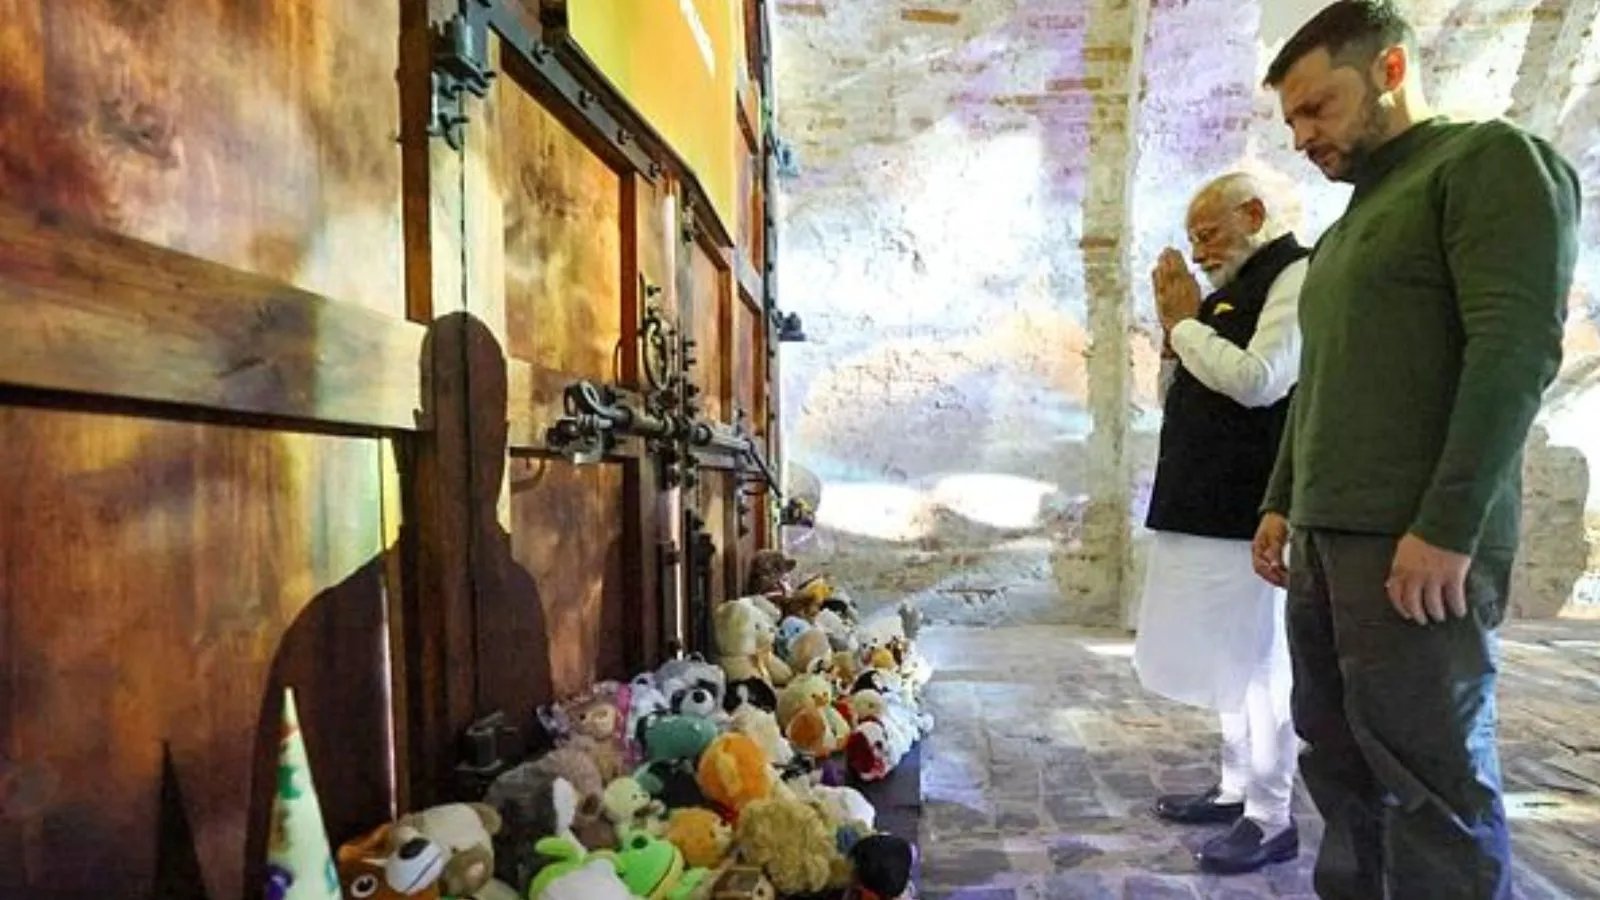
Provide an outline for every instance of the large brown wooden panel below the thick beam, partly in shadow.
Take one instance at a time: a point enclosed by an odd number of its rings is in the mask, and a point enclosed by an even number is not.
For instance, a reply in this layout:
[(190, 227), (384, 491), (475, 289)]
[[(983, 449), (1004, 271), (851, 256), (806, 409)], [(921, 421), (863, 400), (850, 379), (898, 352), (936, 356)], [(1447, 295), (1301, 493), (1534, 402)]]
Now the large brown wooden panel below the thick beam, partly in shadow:
[(0, 432), (0, 754), (51, 786), (0, 828), (0, 895), (149, 897), (184, 858), (189, 890), (261, 884), (285, 684), (334, 838), (390, 814), (378, 440), (18, 407)]

